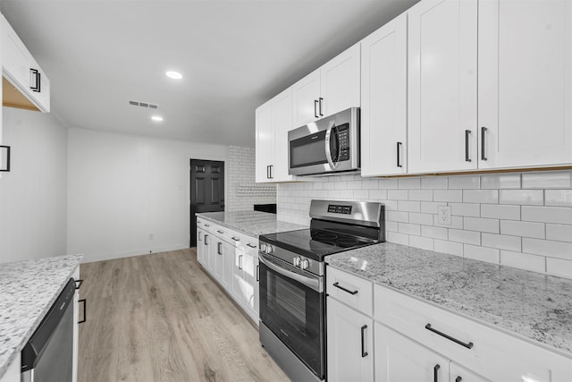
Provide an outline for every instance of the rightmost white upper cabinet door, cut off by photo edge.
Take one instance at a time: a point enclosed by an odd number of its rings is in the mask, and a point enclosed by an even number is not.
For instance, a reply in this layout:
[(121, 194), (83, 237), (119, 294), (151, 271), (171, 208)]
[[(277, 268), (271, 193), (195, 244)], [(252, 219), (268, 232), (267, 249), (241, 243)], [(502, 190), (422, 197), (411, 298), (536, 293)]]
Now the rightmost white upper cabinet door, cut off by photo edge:
[(572, 163), (572, 2), (479, 4), (478, 126), (479, 167)]

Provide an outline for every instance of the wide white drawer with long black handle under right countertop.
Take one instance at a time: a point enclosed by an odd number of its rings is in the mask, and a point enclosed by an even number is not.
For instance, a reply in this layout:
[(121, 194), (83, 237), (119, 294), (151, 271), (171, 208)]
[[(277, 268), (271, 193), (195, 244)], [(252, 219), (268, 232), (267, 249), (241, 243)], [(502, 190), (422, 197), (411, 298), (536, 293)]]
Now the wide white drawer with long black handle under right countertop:
[(374, 306), (375, 320), (484, 378), (572, 380), (572, 360), (428, 302), (375, 285)]

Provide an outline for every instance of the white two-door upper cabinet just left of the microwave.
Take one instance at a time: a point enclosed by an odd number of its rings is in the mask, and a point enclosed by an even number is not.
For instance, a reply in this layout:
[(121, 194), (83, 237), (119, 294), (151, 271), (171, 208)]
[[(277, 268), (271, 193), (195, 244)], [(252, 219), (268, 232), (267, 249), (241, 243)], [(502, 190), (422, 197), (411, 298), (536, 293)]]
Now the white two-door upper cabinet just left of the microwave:
[(257, 107), (257, 183), (289, 182), (288, 132), (292, 129), (292, 89)]

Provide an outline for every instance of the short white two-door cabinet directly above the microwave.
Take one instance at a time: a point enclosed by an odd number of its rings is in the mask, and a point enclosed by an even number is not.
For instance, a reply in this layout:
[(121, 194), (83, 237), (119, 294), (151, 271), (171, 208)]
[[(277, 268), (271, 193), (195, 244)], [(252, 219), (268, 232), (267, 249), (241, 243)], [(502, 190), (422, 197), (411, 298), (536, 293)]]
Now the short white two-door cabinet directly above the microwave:
[(291, 128), (349, 107), (359, 107), (359, 63), (357, 43), (292, 85), (294, 117)]

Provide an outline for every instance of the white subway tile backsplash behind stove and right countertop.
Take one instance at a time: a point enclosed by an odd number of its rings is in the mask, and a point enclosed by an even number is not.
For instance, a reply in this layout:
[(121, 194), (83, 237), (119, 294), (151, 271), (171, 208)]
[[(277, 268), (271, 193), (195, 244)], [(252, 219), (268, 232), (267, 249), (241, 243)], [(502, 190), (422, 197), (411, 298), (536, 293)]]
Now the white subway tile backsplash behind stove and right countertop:
[[(570, 171), (284, 183), (278, 218), (308, 224), (311, 199), (384, 203), (388, 242), (572, 278)], [(450, 206), (451, 225), (439, 206)]]

